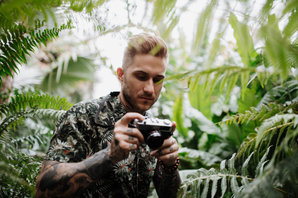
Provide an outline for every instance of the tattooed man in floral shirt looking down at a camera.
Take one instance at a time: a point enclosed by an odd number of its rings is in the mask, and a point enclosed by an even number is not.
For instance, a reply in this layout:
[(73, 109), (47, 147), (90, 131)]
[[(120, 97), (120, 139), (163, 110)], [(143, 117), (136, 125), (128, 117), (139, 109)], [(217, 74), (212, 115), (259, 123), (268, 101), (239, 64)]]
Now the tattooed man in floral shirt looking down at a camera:
[[(178, 145), (172, 137), (150, 152), (142, 133), (129, 128), (144, 120), (158, 99), (168, 51), (164, 41), (135, 35), (117, 69), (121, 92), (75, 104), (58, 121), (36, 182), (36, 198), (147, 198), (151, 179), (160, 198), (176, 197), (181, 183)], [(108, 83), (108, 82), (107, 82)], [(99, 109), (99, 117), (94, 121)], [(105, 126), (114, 125), (114, 129)], [(176, 123), (173, 122), (173, 131)], [(110, 129), (110, 130), (109, 130)]]

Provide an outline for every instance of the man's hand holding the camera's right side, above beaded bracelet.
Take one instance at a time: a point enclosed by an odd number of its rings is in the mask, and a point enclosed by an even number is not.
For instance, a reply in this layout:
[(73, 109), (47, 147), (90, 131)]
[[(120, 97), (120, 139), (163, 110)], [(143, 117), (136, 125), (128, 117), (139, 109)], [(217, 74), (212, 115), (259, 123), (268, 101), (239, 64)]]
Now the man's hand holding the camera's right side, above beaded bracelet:
[[(172, 122), (172, 126), (172, 132), (174, 132), (177, 126), (175, 121)], [(160, 159), (165, 165), (171, 166), (176, 163), (178, 148), (177, 141), (170, 136), (168, 139), (164, 140), (162, 146), (158, 150), (153, 150), (150, 155)]]

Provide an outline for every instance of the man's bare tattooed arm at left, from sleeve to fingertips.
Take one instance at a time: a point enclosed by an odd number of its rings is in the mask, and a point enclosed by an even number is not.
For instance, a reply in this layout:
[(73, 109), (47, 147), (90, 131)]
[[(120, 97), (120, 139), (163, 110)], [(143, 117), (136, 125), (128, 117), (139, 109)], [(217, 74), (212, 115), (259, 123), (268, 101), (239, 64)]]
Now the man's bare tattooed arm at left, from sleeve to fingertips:
[(127, 113), (115, 123), (111, 146), (78, 163), (44, 160), (35, 186), (35, 198), (72, 198), (89, 188), (130, 150), (138, 149), (144, 138), (138, 129), (128, 128), (132, 119), (144, 120), (138, 113)]

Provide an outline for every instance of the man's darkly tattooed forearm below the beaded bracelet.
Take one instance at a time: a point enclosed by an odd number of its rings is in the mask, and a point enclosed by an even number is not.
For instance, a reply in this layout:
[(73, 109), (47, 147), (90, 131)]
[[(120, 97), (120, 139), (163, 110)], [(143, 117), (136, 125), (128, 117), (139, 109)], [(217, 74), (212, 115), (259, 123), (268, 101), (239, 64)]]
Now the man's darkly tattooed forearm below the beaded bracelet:
[(178, 169), (174, 172), (155, 169), (152, 180), (159, 198), (176, 198), (176, 194), (181, 184)]

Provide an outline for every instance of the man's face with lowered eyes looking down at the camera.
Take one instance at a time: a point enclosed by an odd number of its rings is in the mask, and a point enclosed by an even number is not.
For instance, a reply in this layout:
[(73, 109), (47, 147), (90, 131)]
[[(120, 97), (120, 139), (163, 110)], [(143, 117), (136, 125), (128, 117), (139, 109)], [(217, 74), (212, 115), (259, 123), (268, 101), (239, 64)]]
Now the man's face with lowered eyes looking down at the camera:
[(147, 111), (158, 99), (166, 70), (165, 58), (148, 54), (137, 54), (131, 64), (124, 71), (122, 94), (138, 113)]

